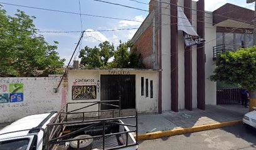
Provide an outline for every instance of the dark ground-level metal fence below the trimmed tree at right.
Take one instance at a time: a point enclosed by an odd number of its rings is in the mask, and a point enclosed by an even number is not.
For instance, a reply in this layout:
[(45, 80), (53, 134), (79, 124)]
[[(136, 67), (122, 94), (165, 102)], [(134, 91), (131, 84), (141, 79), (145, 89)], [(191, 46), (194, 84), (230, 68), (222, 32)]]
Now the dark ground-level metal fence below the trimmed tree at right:
[(240, 104), (240, 89), (217, 89), (217, 104)]

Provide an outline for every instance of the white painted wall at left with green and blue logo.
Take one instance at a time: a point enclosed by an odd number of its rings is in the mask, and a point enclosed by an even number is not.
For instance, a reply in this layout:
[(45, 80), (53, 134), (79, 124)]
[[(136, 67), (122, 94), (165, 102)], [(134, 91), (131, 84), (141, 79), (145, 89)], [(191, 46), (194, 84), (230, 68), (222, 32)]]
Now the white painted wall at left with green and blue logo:
[(65, 103), (65, 89), (63, 84), (58, 93), (53, 89), (59, 81), (60, 77), (0, 78), (0, 123), (60, 110), (61, 103)]

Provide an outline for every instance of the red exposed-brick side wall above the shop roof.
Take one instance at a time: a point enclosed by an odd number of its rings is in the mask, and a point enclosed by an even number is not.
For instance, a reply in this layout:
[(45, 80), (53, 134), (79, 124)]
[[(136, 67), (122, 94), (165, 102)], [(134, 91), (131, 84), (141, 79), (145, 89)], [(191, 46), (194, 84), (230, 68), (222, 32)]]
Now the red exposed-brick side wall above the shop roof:
[(141, 54), (141, 58), (144, 60), (143, 63), (147, 69), (152, 68), (152, 61), (148, 58), (152, 54), (152, 25), (141, 34), (139, 39), (132, 46), (132, 51), (137, 48), (137, 52)]

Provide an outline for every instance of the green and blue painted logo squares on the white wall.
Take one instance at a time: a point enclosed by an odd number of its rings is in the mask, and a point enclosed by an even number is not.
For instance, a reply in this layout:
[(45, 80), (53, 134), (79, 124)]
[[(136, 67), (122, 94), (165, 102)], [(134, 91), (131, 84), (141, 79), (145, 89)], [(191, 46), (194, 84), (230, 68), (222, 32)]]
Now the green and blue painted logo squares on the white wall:
[(0, 103), (23, 102), (23, 86), (23, 83), (1, 84)]

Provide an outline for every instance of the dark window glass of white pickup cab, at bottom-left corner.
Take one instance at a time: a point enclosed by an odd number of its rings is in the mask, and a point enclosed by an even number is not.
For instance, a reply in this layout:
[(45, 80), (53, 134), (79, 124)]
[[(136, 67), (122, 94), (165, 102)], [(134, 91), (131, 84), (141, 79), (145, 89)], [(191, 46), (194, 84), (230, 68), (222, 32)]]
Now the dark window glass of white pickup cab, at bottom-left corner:
[(29, 139), (15, 139), (0, 142), (0, 149), (4, 150), (26, 150)]

